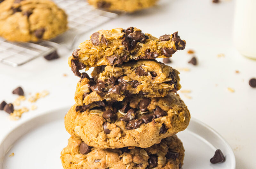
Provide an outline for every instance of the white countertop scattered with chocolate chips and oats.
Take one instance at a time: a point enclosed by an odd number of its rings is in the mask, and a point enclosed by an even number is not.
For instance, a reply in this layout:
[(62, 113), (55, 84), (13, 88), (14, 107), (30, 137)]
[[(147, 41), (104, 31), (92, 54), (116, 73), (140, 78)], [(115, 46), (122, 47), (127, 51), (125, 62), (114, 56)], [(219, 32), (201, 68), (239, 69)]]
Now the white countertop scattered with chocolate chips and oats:
[[(110, 21), (86, 33), (79, 42), (98, 29), (115, 27), (134, 26), (156, 37), (179, 31), (180, 37), (187, 41), (186, 50), (175, 53), (169, 65), (190, 69), (180, 71), (180, 83), (181, 90), (191, 90), (187, 95), (192, 99), (179, 92), (180, 97), (192, 117), (211, 126), (228, 141), (234, 150), (237, 168), (256, 168), (256, 89), (248, 85), (249, 79), (256, 77), (256, 61), (240, 55), (233, 46), (233, 8), (233, 1), (213, 4), (211, 0), (163, 0), (154, 8)], [(188, 64), (192, 57), (188, 49), (196, 52), (197, 66)], [(30, 92), (50, 92), (34, 104), (22, 102), (20, 107), (36, 105), (38, 108), (24, 113), (18, 121), (11, 121), (9, 115), (1, 111), (0, 142), (18, 124), (75, 103), (78, 77), (67, 63), (72, 51), (60, 48), (59, 53), (61, 58), (54, 61), (40, 57), (16, 68), (0, 64), (0, 102), (14, 101), (17, 96), (12, 95), (12, 90), (17, 86), (24, 89), (27, 98)], [(218, 54), (225, 56), (218, 57)], [(236, 70), (240, 73), (235, 73)], [(228, 91), (228, 87), (235, 92)]]

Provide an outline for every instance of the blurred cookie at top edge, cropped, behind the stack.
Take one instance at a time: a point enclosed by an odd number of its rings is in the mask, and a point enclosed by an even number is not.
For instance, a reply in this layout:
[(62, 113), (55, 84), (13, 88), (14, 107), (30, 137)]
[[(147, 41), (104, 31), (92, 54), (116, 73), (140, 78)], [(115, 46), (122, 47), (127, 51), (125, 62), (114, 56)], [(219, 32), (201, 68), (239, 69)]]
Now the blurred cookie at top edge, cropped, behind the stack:
[(134, 12), (155, 5), (157, 0), (88, 0), (95, 8)]

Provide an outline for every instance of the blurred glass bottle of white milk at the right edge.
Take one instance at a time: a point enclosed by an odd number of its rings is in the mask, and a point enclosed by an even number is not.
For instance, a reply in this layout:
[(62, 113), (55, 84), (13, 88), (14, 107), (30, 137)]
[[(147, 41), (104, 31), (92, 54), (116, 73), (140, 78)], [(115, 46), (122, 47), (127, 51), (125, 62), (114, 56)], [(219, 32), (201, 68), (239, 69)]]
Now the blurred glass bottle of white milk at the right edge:
[(239, 53), (256, 59), (256, 0), (236, 0), (234, 43)]

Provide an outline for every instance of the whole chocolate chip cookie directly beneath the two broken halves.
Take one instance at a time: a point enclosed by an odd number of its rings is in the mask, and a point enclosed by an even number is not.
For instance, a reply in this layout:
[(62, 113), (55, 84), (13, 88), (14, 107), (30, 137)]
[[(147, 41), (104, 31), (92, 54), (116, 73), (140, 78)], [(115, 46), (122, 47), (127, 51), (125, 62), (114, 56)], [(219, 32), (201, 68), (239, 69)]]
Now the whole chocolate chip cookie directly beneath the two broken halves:
[(94, 106), (71, 107), (65, 127), (71, 135), (100, 149), (147, 148), (186, 129), (190, 121), (187, 106), (175, 93), (163, 98), (138, 95)]

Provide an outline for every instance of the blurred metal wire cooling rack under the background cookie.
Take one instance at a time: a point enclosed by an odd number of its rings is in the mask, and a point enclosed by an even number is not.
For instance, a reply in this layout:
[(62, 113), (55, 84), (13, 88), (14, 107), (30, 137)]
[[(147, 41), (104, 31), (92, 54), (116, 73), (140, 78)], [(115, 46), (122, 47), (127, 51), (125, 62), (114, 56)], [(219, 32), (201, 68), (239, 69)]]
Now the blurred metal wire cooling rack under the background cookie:
[(60, 44), (72, 49), (81, 34), (117, 18), (122, 13), (94, 9), (85, 0), (54, 0), (54, 2), (68, 15), (68, 31), (54, 39), (41, 40), (37, 43), (9, 42), (0, 38), (0, 62), (15, 67), (38, 56), (52, 53)]

